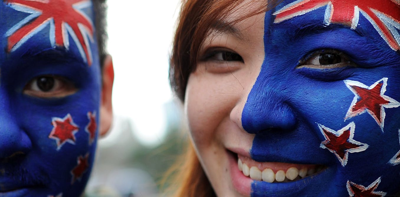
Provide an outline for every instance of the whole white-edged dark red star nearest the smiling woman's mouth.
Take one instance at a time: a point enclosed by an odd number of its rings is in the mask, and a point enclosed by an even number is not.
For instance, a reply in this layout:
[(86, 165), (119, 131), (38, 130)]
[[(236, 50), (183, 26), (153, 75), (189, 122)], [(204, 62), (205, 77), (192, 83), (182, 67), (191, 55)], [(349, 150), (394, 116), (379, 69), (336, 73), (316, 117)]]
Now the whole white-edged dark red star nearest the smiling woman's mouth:
[(361, 152), (368, 148), (368, 144), (353, 139), (356, 127), (354, 122), (349, 123), (338, 131), (334, 131), (321, 124), (318, 124), (318, 127), (326, 139), (321, 142), (320, 147), (334, 153), (342, 166), (347, 164), (349, 153)]

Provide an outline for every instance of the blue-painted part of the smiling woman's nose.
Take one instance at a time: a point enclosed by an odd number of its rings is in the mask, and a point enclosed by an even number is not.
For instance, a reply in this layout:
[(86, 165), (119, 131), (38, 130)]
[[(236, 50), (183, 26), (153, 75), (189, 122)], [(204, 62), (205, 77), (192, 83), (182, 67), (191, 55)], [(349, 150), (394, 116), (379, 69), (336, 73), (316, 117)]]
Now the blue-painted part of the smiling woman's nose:
[(296, 116), (289, 104), (288, 85), (263, 70), (244, 104), (242, 126), (248, 133), (290, 131), (296, 126)]

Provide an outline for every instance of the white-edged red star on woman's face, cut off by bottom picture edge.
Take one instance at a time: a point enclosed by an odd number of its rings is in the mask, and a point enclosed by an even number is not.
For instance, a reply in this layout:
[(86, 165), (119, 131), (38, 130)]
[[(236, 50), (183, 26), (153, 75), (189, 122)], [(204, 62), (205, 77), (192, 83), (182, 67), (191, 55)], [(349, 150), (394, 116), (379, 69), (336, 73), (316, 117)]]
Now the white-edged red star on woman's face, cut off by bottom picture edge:
[(384, 197), (386, 192), (375, 191), (379, 183), (380, 177), (371, 183), (371, 185), (368, 185), (368, 187), (364, 187), (350, 181), (347, 181), (346, 187), (350, 197)]

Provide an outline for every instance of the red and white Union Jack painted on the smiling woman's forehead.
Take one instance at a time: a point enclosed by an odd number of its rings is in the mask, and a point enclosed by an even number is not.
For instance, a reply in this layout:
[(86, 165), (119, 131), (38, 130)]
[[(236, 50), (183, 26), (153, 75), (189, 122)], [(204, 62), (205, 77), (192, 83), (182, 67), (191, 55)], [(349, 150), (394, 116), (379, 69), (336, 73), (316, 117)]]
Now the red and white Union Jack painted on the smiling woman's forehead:
[(360, 13), (378, 31), (393, 50), (400, 49), (399, 1), (392, 0), (297, 0), (276, 11), (275, 23), (300, 16), (326, 6), (324, 21), (356, 29)]

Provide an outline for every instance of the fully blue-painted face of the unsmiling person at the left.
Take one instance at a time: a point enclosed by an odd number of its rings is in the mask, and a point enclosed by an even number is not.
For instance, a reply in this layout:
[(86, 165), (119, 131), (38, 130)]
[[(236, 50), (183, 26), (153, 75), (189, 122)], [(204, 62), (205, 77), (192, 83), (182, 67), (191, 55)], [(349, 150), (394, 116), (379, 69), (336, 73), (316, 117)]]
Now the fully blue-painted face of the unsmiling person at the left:
[(90, 0), (0, 2), (0, 195), (80, 196), (100, 66)]

